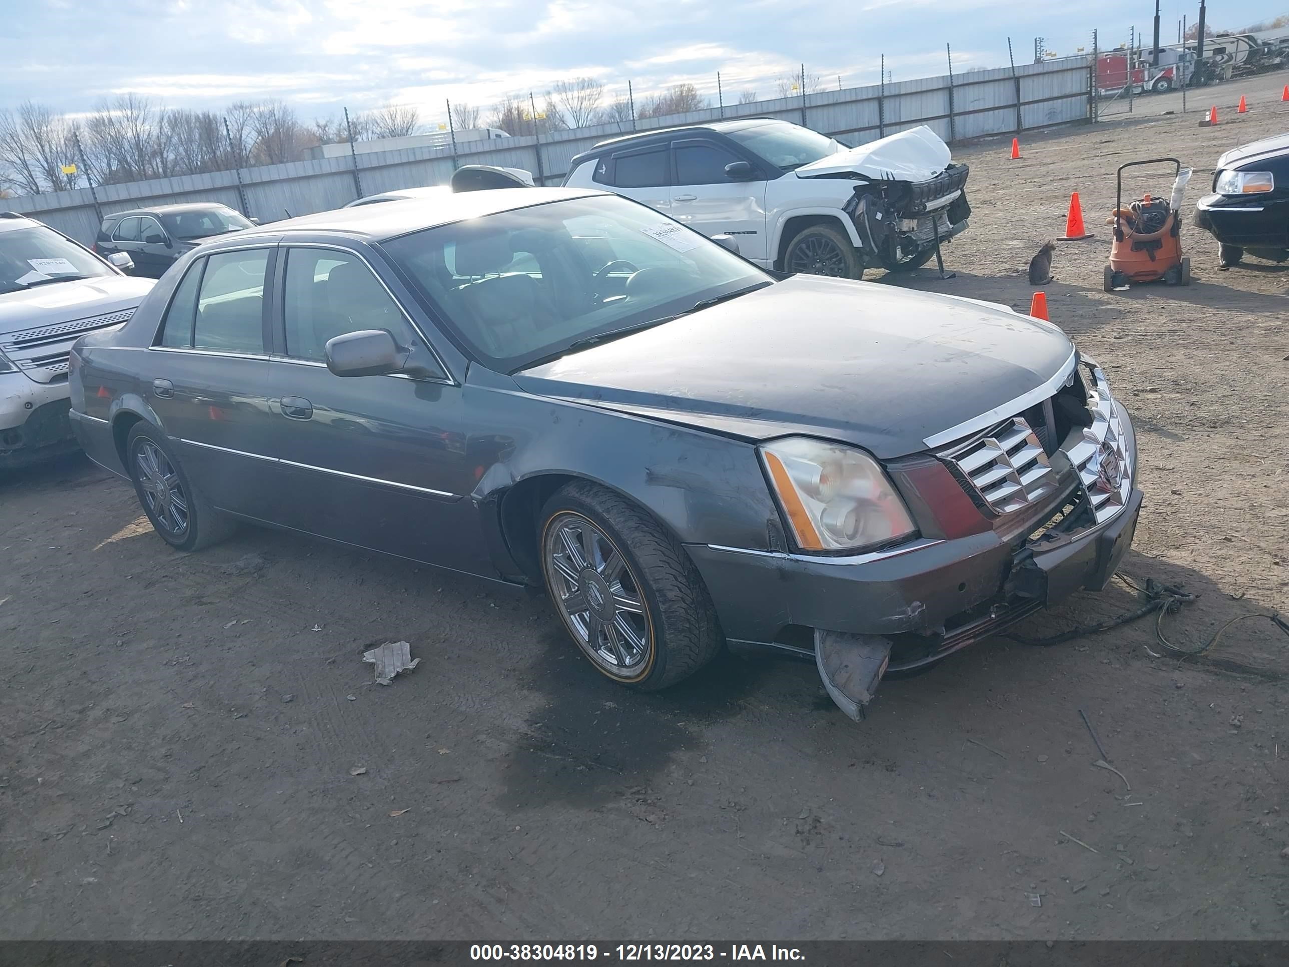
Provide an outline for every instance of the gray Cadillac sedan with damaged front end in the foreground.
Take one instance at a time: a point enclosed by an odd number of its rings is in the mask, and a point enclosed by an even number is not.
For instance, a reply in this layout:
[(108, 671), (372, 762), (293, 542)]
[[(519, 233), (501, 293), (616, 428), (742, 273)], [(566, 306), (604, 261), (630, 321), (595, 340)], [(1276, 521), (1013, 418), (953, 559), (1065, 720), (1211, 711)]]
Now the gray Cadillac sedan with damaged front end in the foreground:
[(593, 191), (238, 232), (71, 365), (79, 438), (180, 551), (247, 521), (544, 587), (616, 682), (771, 649), (852, 717), (1102, 588), (1141, 505), (1128, 414), (1056, 326), (777, 281)]

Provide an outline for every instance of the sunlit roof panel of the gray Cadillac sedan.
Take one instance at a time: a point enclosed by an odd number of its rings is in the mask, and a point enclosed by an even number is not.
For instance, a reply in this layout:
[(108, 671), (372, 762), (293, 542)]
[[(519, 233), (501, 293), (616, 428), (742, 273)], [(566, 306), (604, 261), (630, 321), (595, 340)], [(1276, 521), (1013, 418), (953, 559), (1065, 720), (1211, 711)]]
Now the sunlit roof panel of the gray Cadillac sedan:
[(356, 205), (334, 211), (318, 211), (313, 215), (299, 215), (247, 228), (236, 236), (238, 245), (245, 245), (246, 239), (278, 236), (284, 232), (342, 232), (380, 241), (467, 218), (608, 193), (586, 188), (490, 188), (460, 195), (447, 193), (424, 202), (409, 200), (406, 205)]

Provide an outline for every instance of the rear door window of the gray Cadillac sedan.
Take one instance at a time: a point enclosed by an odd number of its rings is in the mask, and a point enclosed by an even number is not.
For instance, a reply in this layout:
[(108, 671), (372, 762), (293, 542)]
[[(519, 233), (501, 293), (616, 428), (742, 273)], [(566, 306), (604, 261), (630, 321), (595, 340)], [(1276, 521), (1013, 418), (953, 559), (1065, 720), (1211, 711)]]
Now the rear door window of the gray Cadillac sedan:
[(264, 273), (268, 249), (206, 257), (192, 346), (222, 352), (264, 352)]

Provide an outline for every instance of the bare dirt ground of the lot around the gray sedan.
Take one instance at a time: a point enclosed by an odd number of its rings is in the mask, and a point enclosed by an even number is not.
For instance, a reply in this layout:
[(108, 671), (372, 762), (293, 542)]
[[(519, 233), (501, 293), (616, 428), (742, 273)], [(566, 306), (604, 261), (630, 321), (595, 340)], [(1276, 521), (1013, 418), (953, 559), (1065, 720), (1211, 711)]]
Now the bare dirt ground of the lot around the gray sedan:
[[(1188, 210), (1222, 151), (1285, 130), (1284, 80), (1203, 95), (1216, 129), (1143, 99), (1020, 161), (959, 150), (958, 277), (898, 280), (1027, 308), (1080, 192), (1097, 239), (1061, 244), (1051, 313), (1134, 415), (1123, 570), (1201, 596), (1165, 623), (1187, 647), (1289, 607), (1289, 268), (1218, 271), (1187, 226), (1191, 288), (1105, 294), (1102, 222), (1137, 157), (1195, 166)], [(808, 665), (624, 691), (544, 600), (470, 579), (255, 530), (171, 553), (81, 459), (0, 478), (0, 551), (6, 939), (1289, 936), (1289, 637), (1263, 620), (1210, 663), (1151, 658), (1145, 621), (995, 640), (855, 725)], [(1115, 583), (1021, 630), (1133, 606)], [(363, 646), (401, 638), (420, 667), (373, 685)]]

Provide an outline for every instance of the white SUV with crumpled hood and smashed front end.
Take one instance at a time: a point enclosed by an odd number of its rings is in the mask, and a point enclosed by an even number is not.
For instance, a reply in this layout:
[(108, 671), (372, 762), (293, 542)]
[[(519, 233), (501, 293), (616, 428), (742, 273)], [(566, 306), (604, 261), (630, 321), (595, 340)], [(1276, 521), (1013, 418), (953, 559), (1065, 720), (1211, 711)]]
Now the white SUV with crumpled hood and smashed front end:
[(967, 175), (926, 126), (848, 148), (757, 117), (601, 142), (570, 161), (565, 184), (731, 236), (764, 268), (861, 278), (865, 268), (924, 266), (965, 230)]

